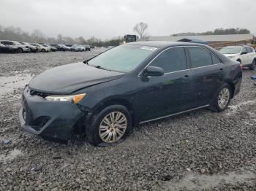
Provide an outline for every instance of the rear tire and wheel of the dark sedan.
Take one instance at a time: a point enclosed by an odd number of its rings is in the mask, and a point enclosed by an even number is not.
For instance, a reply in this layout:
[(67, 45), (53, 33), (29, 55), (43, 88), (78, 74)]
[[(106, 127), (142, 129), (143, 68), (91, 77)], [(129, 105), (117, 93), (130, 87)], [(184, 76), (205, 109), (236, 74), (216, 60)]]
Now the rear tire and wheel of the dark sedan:
[[(211, 110), (213, 110), (214, 112), (224, 111), (227, 108), (228, 104), (230, 104), (231, 95), (232, 91), (230, 85), (228, 85), (227, 83), (223, 84), (221, 87), (219, 87), (219, 90), (217, 91), (216, 95), (214, 95), (214, 98), (211, 101)], [(220, 100), (221, 98), (224, 98), (223, 102)]]

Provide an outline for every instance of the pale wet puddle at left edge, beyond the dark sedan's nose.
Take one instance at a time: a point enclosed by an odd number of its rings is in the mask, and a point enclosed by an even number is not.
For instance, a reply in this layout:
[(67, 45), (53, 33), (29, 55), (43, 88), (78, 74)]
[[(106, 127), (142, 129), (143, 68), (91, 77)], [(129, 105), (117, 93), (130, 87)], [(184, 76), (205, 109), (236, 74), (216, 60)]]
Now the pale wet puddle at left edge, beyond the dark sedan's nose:
[(19, 87), (25, 87), (31, 78), (32, 76), (29, 74), (18, 74), (13, 77), (0, 77), (0, 97), (1, 95), (13, 92), (13, 90), (18, 89)]

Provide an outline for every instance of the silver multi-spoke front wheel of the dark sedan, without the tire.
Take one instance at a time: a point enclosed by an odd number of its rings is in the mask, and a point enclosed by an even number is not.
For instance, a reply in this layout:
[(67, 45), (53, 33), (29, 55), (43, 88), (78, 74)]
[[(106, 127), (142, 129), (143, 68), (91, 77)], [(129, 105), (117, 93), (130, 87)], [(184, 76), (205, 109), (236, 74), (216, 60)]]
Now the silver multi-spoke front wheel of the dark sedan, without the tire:
[(100, 122), (99, 137), (105, 143), (114, 143), (124, 136), (127, 117), (122, 112), (110, 112)]

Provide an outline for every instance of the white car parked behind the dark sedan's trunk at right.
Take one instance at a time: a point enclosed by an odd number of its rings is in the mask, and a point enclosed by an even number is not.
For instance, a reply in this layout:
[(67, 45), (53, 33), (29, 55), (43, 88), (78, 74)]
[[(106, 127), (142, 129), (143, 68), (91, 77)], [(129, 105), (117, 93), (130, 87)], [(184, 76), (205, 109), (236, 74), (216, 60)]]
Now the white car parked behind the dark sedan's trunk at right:
[(223, 47), (219, 50), (232, 61), (238, 61), (242, 66), (254, 70), (256, 67), (256, 52), (249, 46)]

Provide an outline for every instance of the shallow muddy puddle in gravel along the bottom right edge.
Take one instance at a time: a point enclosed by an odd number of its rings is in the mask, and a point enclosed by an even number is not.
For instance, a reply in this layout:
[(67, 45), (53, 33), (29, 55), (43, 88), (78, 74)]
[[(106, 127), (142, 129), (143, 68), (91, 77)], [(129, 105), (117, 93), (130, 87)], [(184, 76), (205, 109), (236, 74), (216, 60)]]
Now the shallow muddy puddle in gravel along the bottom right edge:
[(236, 185), (255, 181), (256, 174), (247, 171), (242, 174), (231, 172), (227, 175), (188, 174), (178, 182), (166, 182), (161, 190), (208, 190), (223, 184)]

